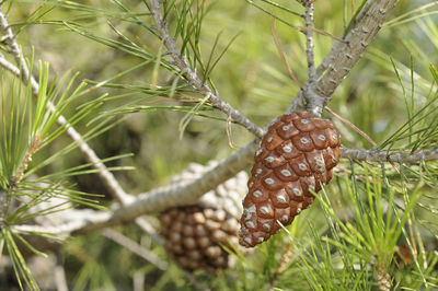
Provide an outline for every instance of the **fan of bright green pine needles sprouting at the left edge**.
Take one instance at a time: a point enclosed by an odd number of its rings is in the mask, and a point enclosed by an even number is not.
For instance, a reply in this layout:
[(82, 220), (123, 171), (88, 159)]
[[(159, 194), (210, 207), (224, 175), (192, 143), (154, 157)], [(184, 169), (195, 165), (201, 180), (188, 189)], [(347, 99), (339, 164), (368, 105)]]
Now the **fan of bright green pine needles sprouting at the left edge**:
[[(33, 60), (30, 63), (32, 65)], [(33, 67), (30, 66), (31, 71)], [(23, 248), (27, 248), (36, 255), (45, 256), (45, 254), (37, 249), (38, 246), (33, 246), (20, 232), (14, 230), (14, 225), (35, 221), (37, 218), (53, 214), (78, 203), (105, 209), (96, 203), (93, 195), (74, 189), (74, 186), (66, 181), (68, 176), (95, 173), (96, 171), (89, 170), (91, 164), (66, 168), (50, 175), (35, 176), (35, 173), (38, 173), (42, 167), (62, 159), (66, 153), (77, 148), (78, 143), (70, 143), (39, 164), (32, 163), (33, 158), (65, 133), (69, 126), (77, 125), (99, 107), (97, 102), (84, 104), (64, 124), (57, 126), (59, 116), (67, 112), (76, 98), (87, 93), (85, 83), (82, 82), (73, 89), (77, 74), (71, 77), (67, 73), (60, 80), (55, 77), (53, 81), (49, 81), (48, 63), (39, 62), (38, 69), (39, 86), (35, 98), (31, 82), (22, 85), (19, 78), (7, 74), (4, 70), (2, 71), (2, 83), (8, 85), (2, 86), (0, 96), (3, 113), (0, 120), (2, 143), (0, 148), (1, 248), (9, 254), (20, 288), (30, 290), (39, 290), (39, 288), (26, 266), (22, 255)], [(104, 126), (105, 123), (99, 124), (85, 135), (85, 138), (96, 131), (102, 131)], [(117, 156), (107, 159), (107, 161), (114, 159)], [(114, 170), (126, 168), (114, 167)], [(56, 236), (44, 231), (32, 231), (25, 234), (30, 233), (57, 240)]]

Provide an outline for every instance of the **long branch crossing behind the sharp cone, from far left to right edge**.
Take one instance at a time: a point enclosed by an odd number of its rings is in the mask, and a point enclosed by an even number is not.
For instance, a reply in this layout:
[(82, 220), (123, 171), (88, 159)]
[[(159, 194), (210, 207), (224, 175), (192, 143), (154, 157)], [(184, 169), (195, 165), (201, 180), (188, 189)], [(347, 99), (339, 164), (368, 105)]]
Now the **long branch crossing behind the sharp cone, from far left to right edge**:
[[(251, 147), (250, 147), (251, 146)], [(138, 199), (122, 207), (113, 214), (104, 211), (94, 210), (69, 210), (64, 218), (65, 222), (56, 226), (42, 225), (14, 225), (12, 229), (22, 233), (48, 233), (48, 234), (73, 234), (88, 233), (104, 228), (114, 226), (134, 219), (139, 219), (141, 214), (159, 212), (171, 207), (186, 206), (196, 201), (203, 194), (210, 190), (210, 185), (223, 183), (252, 163), (252, 154), (256, 143), (250, 143), (242, 150), (237, 151), (228, 159), (219, 163), (216, 167), (208, 171), (204, 176), (188, 183), (176, 184), (168, 187), (158, 188), (149, 193), (141, 194)], [(437, 161), (438, 149), (430, 151), (419, 151), (414, 153), (396, 152), (388, 154), (387, 151), (376, 150), (354, 150), (341, 149), (343, 159), (367, 162), (399, 162), (399, 163), (419, 163), (423, 161)], [(226, 179), (221, 178), (226, 175)], [(150, 232), (150, 229), (147, 231)], [(160, 243), (159, 243), (160, 244)]]

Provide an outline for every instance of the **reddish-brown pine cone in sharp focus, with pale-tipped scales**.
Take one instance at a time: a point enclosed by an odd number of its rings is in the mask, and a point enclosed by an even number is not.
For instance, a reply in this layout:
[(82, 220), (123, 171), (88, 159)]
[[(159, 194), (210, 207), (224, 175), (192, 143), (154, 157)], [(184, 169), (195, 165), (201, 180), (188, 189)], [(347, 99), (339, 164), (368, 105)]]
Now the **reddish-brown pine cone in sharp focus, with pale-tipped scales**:
[(253, 247), (289, 225), (313, 202), (339, 161), (341, 137), (331, 121), (297, 112), (273, 124), (255, 153), (243, 200), (239, 243)]

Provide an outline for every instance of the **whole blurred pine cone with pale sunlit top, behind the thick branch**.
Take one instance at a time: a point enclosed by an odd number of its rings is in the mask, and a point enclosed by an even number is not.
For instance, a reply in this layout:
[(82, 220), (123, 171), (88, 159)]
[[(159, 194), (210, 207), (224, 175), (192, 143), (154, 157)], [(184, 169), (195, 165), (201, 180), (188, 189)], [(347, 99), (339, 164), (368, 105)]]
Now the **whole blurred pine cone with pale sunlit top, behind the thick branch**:
[[(206, 167), (192, 164), (173, 183), (191, 182), (212, 166), (215, 163)], [(229, 248), (239, 245), (237, 233), (242, 211), (238, 201), (242, 199), (246, 182), (246, 173), (241, 172), (204, 195), (196, 205), (172, 208), (161, 213), (165, 249), (183, 268), (216, 271), (231, 265), (232, 259), (222, 245)]]

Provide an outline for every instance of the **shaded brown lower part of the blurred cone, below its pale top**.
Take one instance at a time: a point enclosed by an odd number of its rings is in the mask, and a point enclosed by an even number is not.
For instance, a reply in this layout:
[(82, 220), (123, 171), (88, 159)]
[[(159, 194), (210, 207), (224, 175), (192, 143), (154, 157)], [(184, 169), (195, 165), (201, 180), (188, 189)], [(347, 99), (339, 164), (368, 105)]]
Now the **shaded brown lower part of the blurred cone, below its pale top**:
[(215, 271), (229, 266), (221, 245), (238, 244), (239, 221), (219, 209), (173, 208), (160, 216), (165, 249), (183, 268)]

